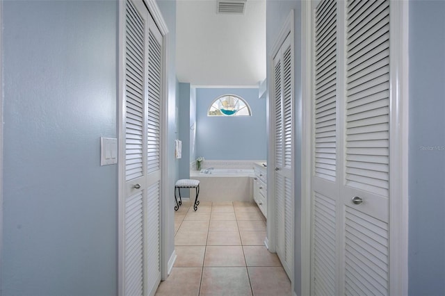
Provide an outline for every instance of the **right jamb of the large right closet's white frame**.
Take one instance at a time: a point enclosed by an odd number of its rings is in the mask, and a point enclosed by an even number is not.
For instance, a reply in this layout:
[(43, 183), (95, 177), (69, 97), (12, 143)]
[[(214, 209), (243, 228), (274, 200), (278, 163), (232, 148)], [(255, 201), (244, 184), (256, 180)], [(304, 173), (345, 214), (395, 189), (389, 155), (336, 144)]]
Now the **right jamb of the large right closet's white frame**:
[[(391, 1), (389, 26), (389, 295), (408, 294), (409, 1)], [(396, 256), (394, 256), (396, 254)]]

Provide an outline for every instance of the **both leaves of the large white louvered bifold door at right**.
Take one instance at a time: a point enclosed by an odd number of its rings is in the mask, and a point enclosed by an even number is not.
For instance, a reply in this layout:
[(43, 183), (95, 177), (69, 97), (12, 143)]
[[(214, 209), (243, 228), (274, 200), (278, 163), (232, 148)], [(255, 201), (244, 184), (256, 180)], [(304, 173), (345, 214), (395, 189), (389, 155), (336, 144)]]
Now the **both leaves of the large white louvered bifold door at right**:
[(315, 27), (312, 290), (388, 295), (389, 1), (321, 1)]

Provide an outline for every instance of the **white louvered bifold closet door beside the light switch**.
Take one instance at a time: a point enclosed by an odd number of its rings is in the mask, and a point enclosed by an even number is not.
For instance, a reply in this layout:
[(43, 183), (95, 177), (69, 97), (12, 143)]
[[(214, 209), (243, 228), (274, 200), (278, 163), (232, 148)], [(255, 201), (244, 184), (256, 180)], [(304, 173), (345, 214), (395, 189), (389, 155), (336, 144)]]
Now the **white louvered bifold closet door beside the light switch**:
[(154, 295), (159, 250), (161, 63), (144, 3), (126, 1), (124, 295)]

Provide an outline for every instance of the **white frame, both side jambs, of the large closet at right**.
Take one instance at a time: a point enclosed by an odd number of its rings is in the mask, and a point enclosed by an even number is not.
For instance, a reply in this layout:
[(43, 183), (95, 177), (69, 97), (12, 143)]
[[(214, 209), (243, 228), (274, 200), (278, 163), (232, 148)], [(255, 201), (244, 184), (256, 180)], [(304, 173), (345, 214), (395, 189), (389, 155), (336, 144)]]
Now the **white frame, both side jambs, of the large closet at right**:
[[(302, 1), (302, 295), (310, 294), (312, 1)], [(389, 295), (408, 293), (408, 1), (390, 6)], [(309, 244), (309, 245), (308, 245)]]

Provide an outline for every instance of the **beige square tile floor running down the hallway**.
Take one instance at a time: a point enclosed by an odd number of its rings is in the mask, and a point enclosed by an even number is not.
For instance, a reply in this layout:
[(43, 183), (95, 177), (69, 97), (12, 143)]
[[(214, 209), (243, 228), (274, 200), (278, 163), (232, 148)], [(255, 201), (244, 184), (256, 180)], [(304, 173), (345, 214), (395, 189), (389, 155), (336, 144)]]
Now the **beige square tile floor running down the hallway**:
[(156, 295), (291, 295), (277, 254), (264, 247), (266, 219), (256, 204), (184, 202), (175, 212), (177, 259)]

